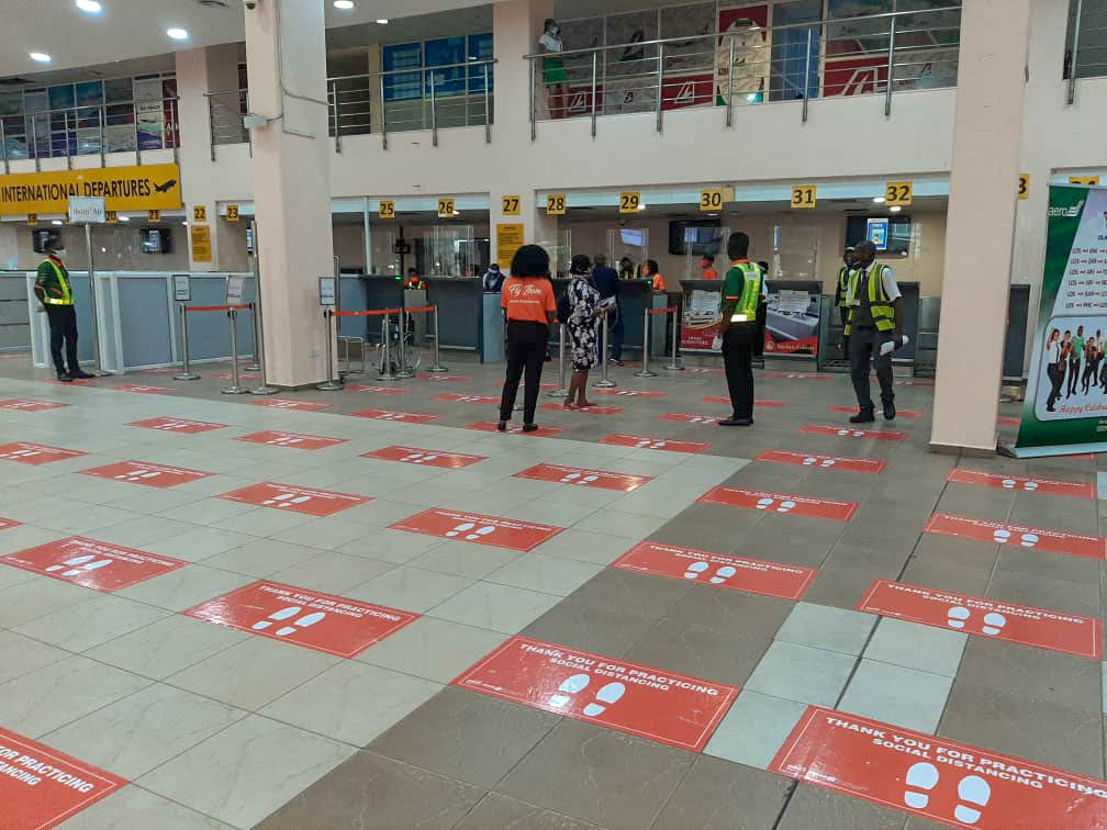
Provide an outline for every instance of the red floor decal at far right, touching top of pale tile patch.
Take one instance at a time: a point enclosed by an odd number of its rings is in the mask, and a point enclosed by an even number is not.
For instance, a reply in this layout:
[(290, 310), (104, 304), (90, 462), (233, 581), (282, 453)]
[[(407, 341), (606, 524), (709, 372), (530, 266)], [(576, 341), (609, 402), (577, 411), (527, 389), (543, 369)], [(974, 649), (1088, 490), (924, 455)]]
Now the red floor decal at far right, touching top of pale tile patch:
[(884, 579), (873, 580), (857, 610), (1093, 660), (1103, 657), (1103, 622), (1090, 616)]

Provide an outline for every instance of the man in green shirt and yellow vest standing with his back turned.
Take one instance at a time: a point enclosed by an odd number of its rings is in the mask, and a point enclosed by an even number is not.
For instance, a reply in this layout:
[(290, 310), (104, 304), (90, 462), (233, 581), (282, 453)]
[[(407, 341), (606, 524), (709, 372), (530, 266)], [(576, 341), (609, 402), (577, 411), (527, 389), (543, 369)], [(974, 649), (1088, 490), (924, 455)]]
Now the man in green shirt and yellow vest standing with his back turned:
[[(726, 240), (731, 268), (723, 278), (720, 303), (720, 338), (731, 393), (731, 417), (722, 426), (749, 426), (754, 423), (754, 350), (761, 326), (758, 317), (766, 301), (765, 276), (749, 261), (749, 237), (738, 231)], [(720, 342), (721, 341), (721, 342)]]

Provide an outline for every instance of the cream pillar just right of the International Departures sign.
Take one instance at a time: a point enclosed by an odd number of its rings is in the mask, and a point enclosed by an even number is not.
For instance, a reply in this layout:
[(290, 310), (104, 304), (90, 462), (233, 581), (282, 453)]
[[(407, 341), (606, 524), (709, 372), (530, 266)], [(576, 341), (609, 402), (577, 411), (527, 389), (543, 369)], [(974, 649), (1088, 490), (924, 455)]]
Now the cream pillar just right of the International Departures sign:
[(334, 271), (323, 0), (247, 11), (246, 61), (250, 108), (269, 118), (254, 131), (267, 380), (297, 387), (330, 376), (319, 308), (319, 278)]

